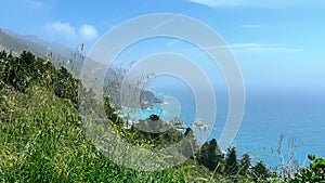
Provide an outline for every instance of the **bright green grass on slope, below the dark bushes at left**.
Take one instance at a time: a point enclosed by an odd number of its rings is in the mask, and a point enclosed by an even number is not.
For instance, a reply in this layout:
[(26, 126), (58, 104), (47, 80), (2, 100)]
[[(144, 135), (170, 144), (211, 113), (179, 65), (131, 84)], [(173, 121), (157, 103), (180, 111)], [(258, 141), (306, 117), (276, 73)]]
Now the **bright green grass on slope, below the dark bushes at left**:
[(115, 165), (87, 140), (69, 100), (39, 87), (15, 97), (13, 120), (0, 122), (0, 182), (185, 182), (174, 170)]

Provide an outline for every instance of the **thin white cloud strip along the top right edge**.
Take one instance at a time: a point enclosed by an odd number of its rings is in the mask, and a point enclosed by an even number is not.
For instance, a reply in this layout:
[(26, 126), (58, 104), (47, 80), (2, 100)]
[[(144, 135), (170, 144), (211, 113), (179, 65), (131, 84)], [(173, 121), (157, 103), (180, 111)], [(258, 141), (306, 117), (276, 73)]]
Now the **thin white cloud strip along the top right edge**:
[(219, 6), (301, 6), (301, 5), (321, 5), (325, 4), (322, 0), (295, 0), (295, 1), (283, 1), (283, 0), (188, 0), (191, 2), (199, 3), (210, 8)]

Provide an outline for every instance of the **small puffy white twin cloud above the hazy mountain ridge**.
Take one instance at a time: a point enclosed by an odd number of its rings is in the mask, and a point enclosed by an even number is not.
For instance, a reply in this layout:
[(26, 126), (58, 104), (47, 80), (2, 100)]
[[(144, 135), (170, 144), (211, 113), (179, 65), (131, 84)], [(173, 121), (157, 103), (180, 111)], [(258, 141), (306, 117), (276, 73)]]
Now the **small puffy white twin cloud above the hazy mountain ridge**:
[(43, 28), (52, 38), (64, 38), (68, 41), (92, 41), (98, 38), (96, 28), (89, 24), (83, 24), (77, 29), (68, 23), (54, 22)]

